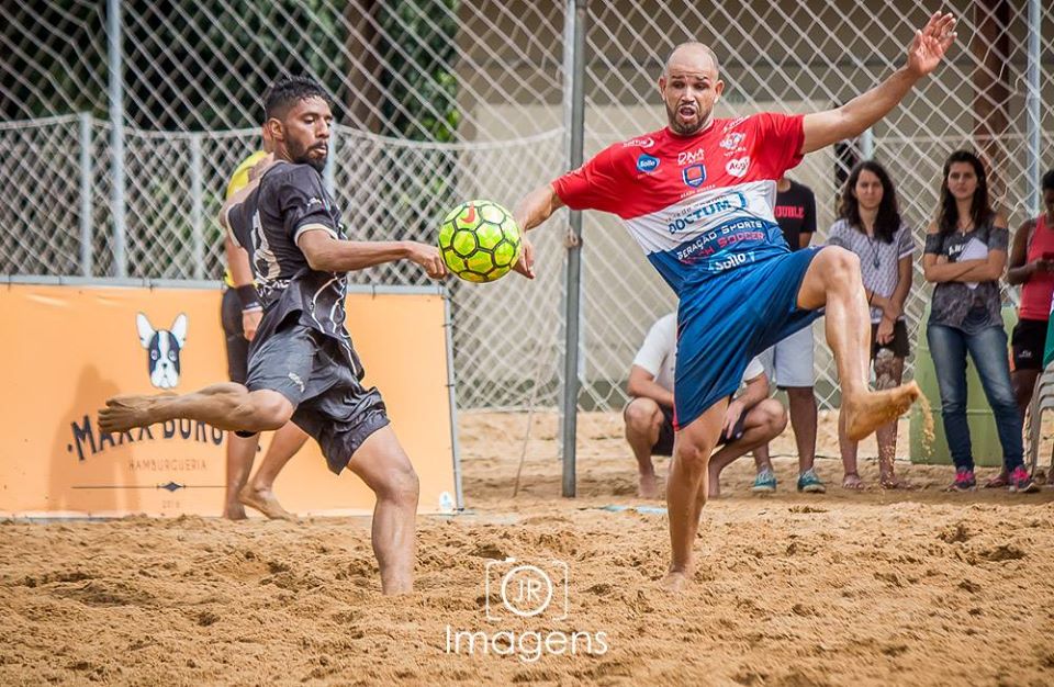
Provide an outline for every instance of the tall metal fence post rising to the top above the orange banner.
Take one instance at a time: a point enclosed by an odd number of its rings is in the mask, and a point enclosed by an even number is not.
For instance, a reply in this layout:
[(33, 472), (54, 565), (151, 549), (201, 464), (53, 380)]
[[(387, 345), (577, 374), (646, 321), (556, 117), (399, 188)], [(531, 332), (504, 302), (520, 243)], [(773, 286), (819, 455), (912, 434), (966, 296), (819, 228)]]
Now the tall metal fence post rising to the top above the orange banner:
[(112, 159), (113, 273), (127, 274), (124, 205), (124, 64), (121, 55), (121, 0), (106, 0), (106, 53), (110, 69), (110, 155)]

